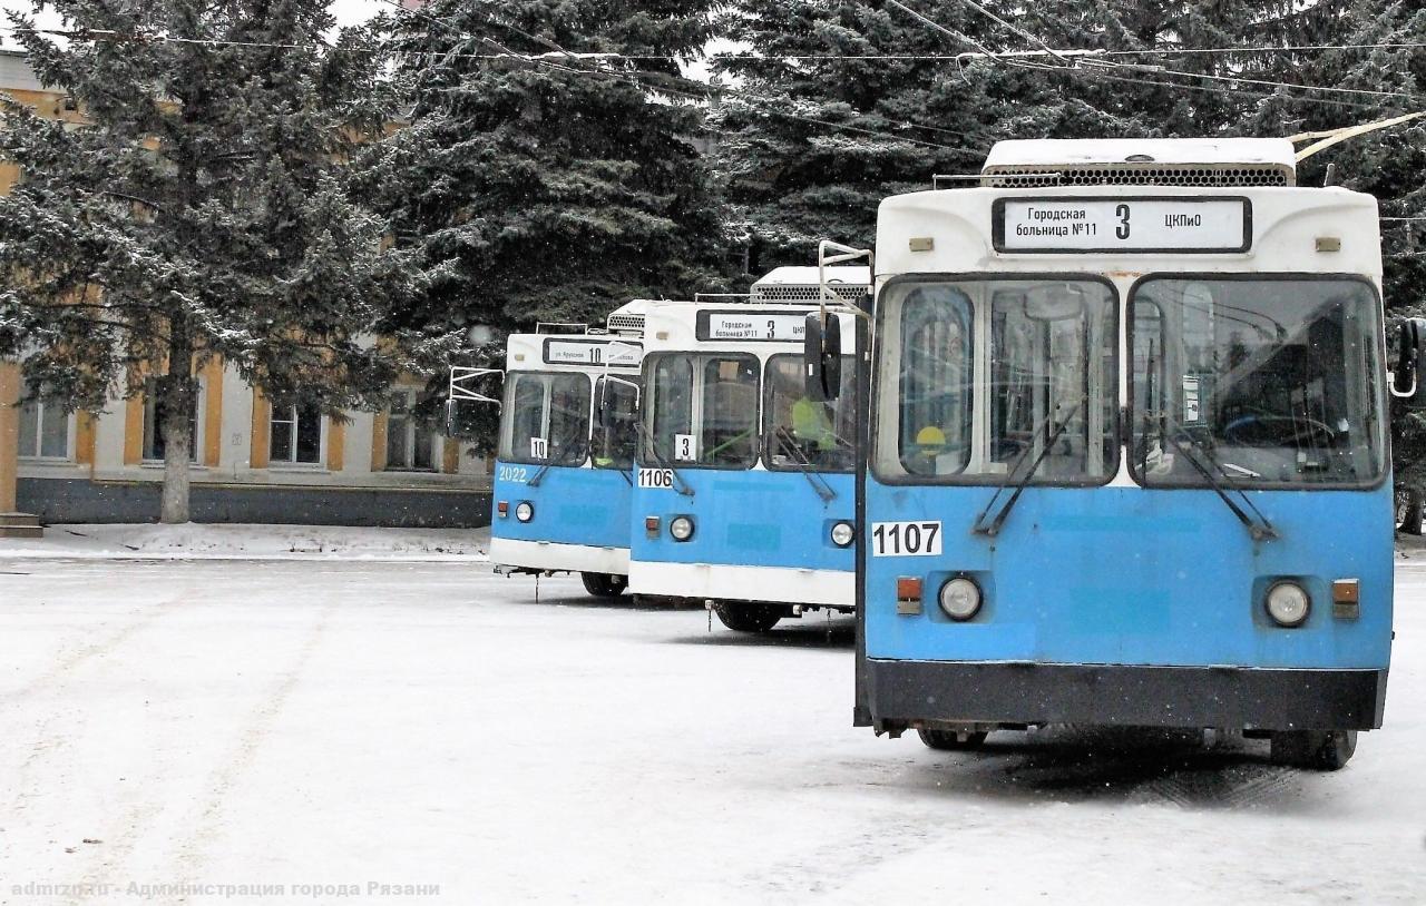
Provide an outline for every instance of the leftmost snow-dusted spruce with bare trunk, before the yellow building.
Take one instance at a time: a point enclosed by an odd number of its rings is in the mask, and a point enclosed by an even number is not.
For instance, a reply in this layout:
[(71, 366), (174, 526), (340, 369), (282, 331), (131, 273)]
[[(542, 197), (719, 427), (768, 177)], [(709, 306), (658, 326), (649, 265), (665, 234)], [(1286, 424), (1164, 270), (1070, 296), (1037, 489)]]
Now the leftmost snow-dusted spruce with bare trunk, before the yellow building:
[(163, 520), (187, 521), (202, 362), (341, 417), (411, 365), (374, 333), (432, 352), (386, 330), (416, 271), (348, 192), (344, 161), (391, 113), (382, 61), (359, 31), (324, 40), (325, 0), (48, 6), (68, 41), (11, 21), (80, 123), (4, 105), (0, 152), (23, 177), (0, 199), (0, 355), (26, 352), (33, 386), (71, 407), (150, 380)]

